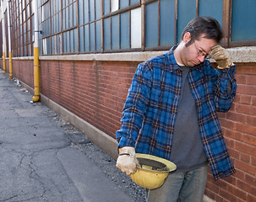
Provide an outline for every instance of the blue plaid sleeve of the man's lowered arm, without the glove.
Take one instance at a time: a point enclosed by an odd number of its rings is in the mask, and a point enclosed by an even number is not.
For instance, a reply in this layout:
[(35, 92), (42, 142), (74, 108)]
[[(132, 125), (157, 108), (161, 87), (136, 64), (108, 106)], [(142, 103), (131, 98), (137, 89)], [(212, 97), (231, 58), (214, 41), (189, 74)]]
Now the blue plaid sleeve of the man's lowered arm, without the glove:
[(150, 64), (139, 64), (123, 107), (122, 126), (116, 134), (119, 147), (135, 146), (149, 104), (151, 84), (152, 69)]

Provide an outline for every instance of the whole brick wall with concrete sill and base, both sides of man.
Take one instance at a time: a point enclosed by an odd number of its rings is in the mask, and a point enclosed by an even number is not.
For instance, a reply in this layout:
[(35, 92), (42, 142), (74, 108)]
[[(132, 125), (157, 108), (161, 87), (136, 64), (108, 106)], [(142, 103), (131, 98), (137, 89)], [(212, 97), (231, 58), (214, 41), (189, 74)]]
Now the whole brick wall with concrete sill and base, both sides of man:
[[(220, 202), (252, 202), (256, 201), (255, 48), (230, 51), (237, 64), (237, 97), (219, 118), (237, 173), (216, 182), (209, 173), (205, 194)], [(41, 101), (116, 158), (114, 136), (133, 73), (140, 61), (161, 53), (41, 56)], [(6, 65), (8, 72), (8, 60)], [(32, 58), (14, 58), (13, 66), (14, 77), (33, 92)]]

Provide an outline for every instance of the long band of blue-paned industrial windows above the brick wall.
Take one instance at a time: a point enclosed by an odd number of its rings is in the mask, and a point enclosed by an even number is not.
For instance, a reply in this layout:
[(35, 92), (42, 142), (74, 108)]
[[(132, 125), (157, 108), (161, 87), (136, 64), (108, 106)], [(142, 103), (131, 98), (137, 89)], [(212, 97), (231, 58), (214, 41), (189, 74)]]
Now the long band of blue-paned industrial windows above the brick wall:
[(206, 15), (222, 25), (223, 45), (256, 45), (254, 0), (38, 0), (39, 19), (34, 1), (11, 1), (13, 56), (33, 56), (35, 20), (41, 55), (168, 50)]

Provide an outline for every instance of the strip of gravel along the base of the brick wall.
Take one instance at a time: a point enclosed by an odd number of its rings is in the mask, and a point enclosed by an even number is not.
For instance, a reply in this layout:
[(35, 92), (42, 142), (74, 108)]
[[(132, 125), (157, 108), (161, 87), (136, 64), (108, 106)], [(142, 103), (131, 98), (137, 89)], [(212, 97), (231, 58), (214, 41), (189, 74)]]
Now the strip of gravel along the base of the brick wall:
[(86, 134), (84, 135), (84, 133), (63, 120), (50, 109), (46, 112), (46, 116), (56, 121), (58, 127), (62, 128), (65, 136), (70, 140), (71, 146), (74, 146), (74, 148), (84, 152), (84, 155), (90, 157), (90, 160), (94, 162), (97, 167), (100, 167), (101, 171), (105, 173), (108, 178), (111, 178), (112, 182), (116, 183), (124, 193), (128, 194), (129, 197), (136, 202), (145, 201), (145, 189), (133, 183), (131, 178), (125, 173), (122, 173), (116, 167), (116, 161), (106, 155), (99, 147), (95, 146), (95, 144), (88, 139)]

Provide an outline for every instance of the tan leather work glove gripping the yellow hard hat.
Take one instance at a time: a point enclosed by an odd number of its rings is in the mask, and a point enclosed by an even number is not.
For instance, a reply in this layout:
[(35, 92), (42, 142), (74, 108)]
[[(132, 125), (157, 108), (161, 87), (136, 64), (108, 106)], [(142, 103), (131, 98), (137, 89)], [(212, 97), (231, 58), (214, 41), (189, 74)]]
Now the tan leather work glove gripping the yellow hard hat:
[[(132, 146), (123, 146), (118, 149), (119, 156), (117, 158), (116, 167), (119, 168), (123, 173), (130, 175), (136, 173), (139, 161), (135, 157), (135, 149)], [(139, 166), (140, 167), (140, 166)]]

